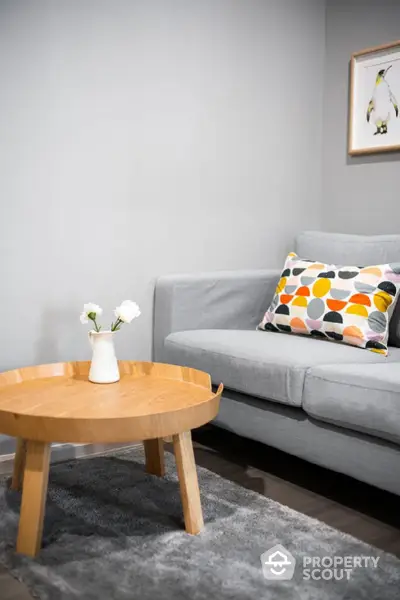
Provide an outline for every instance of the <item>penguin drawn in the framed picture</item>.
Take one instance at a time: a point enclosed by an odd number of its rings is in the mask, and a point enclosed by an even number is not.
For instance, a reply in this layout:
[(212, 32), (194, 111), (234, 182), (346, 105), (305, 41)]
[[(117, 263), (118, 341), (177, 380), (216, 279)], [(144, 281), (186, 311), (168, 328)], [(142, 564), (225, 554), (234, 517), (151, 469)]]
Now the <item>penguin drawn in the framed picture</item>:
[(381, 69), (378, 72), (372, 98), (368, 104), (367, 123), (370, 122), (371, 113), (373, 112), (373, 122), (376, 126), (374, 135), (383, 135), (387, 133), (388, 121), (393, 108), (396, 117), (399, 116), (399, 105), (392, 90), (390, 89), (390, 85), (385, 79), (387, 72), (391, 67), (392, 65), (389, 65), (387, 69)]

